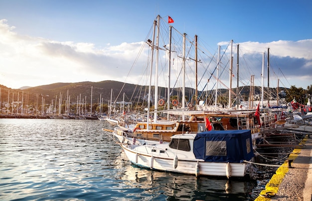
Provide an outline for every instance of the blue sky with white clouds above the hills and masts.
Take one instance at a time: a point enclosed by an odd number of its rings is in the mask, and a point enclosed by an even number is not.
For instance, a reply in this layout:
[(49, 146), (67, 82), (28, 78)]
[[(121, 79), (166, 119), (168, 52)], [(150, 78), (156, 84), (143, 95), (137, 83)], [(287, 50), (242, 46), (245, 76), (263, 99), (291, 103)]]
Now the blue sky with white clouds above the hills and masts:
[[(311, 10), (311, 0), (0, 0), (0, 84), (13, 89), (103, 80), (139, 84), (142, 77), (130, 71), (145, 72), (147, 58), (137, 56), (142, 46), (148, 49), (147, 35), (160, 15), (164, 21), (170, 16), (174, 22), (166, 25), (180, 33), (198, 35), (214, 57), (219, 45), (228, 53), (231, 40), (234, 51), (239, 44), (240, 73), (246, 74), (240, 84), (249, 85), (251, 74), (261, 84), (266, 52), (270, 76), (282, 87), (306, 89), (312, 84)], [(141, 65), (137, 70), (135, 63)], [(208, 71), (216, 76), (213, 68)]]

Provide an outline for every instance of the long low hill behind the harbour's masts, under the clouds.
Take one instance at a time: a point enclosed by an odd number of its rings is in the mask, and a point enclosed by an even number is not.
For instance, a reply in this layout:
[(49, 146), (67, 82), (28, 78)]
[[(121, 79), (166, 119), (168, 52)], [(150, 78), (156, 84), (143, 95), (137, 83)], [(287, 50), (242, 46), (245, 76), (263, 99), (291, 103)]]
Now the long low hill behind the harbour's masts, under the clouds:
[[(115, 100), (125, 102), (140, 102), (147, 100), (148, 97), (148, 86), (141, 86), (129, 83), (123, 83), (118, 81), (106, 80), (100, 82), (76, 82), (76, 83), (53, 83), (48, 85), (41, 85), (36, 87), (30, 87), (26, 89), (10, 89), (3, 85), (1, 87), (1, 96), (0, 101), (5, 103), (7, 100), (11, 103), (12, 101), (21, 101), (23, 100), (24, 104), (33, 104), (33, 105), (41, 105), (41, 101), (44, 100), (45, 104), (51, 104), (52, 101), (59, 102), (60, 94), (62, 96), (62, 100), (65, 101), (67, 99), (67, 91), (68, 96), (70, 96), (71, 103), (77, 103), (79, 100), (82, 103), (82, 100), (86, 100), (87, 103), (91, 102), (91, 90), (92, 90), (92, 103), (99, 103), (102, 98), (102, 102), (104, 104), (108, 104), (111, 100), (112, 102)], [(236, 89), (232, 89), (236, 92)], [(244, 100), (248, 100), (249, 97), (249, 86), (240, 87), (239, 91)], [(284, 89), (280, 89), (284, 90)], [(159, 87), (159, 99), (167, 96), (166, 88)], [(152, 87), (152, 93), (154, 93), (154, 87)], [(194, 96), (194, 89), (186, 88), (185, 96), (188, 100), (189, 97)], [(198, 94), (201, 92), (199, 91)], [(214, 94), (214, 90), (209, 90), (207, 93)], [(261, 88), (255, 87), (255, 94), (260, 94)], [(9, 94), (9, 99), (8, 99)], [(220, 89), (219, 91), (220, 97), (222, 99), (227, 100), (228, 90)], [(172, 96), (179, 97), (181, 99), (181, 89), (175, 88), (172, 92)]]

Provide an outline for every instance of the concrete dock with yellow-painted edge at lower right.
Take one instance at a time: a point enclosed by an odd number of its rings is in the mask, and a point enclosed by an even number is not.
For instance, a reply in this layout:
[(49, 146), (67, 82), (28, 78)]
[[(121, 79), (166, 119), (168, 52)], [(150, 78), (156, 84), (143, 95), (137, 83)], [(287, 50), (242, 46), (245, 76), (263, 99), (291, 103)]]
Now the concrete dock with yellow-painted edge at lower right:
[(255, 201), (312, 201), (312, 134), (278, 168)]

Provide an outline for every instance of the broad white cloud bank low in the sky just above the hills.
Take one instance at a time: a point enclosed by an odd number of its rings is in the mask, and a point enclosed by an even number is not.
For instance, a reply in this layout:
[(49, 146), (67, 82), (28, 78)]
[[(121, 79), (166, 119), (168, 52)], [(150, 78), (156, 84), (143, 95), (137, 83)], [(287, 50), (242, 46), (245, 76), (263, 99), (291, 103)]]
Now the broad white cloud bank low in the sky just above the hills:
[[(4, 19), (0, 20), (0, 35), (0, 84), (11, 88), (55, 82), (102, 80), (139, 83), (146, 79), (142, 77), (142, 74), (147, 72), (146, 68), (149, 67), (148, 55), (146, 51), (142, 51), (142, 48), (147, 46), (144, 42), (123, 42), (115, 46), (107, 44), (104, 48), (97, 49), (92, 43), (53, 41), (19, 35)], [(227, 45), (228, 43), (220, 42), (219, 44)], [(311, 84), (312, 39), (279, 40), (270, 43), (248, 41), (240, 43), (240, 47), (242, 47), (240, 56), (244, 57), (240, 61), (242, 63), (240, 66), (244, 70), (240, 72), (242, 75), (246, 74), (246, 83), (250, 74), (260, 76), (262, 52), (270, 47), (271, 65), (275, 73), (279, 73), (281, 69), (290, 85), (306, 88)], [(137, 57), (141, 51), (142, 56)], [(175, 56), (175, 64), (172, 65), (175, 76), (178, 76), (181, 68), (177, 63), (178, 60), (180, 59)], [(139, 69), (132, 69), (133, 65), (138, 66)], [(294, 68), (296, 68), (295, 71)], [(128, 74), (131, 70), (133, 72)], [(164, 69), (160, 71), (165, 72)], [(204, 72), (204, 69), (201, 69), (201, 72)], [(228, 73), (224, 72), (224, 77), (227, 76)], [(188, 75), (188, 77), (191, 76)], [(164, 80), (165, 77), (159, 77), (159, 79)], [(194, 78), (190, 79), (193, 82)], [(227, 78), (224, 80), (226, 83)], [(163, 84), (166, 85), (166, 83)]]

